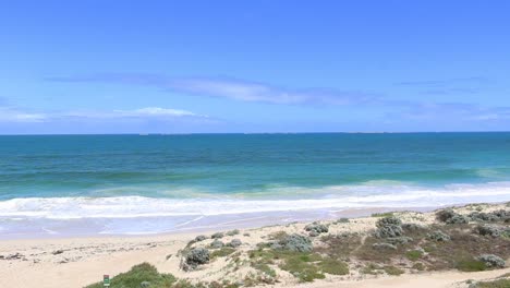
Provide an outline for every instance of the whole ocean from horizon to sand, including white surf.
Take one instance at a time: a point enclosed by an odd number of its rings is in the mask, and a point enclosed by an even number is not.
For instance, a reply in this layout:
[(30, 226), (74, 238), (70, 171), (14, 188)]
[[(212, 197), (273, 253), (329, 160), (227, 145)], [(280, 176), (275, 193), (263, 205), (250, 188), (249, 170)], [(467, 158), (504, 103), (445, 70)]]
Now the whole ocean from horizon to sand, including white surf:
[(0, 136), (0, 238), (510, 201), (510, 133)]

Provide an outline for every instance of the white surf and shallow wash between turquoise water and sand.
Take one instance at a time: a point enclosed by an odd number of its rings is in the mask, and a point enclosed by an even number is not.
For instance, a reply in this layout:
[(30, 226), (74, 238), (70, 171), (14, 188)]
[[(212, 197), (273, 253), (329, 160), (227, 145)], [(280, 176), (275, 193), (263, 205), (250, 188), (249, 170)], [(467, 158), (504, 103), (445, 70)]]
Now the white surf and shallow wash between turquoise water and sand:
[(294, 189), (299, 192), (294, 197), (278, 193), (271, 197), (221, 194), (215, 199), (205, 195), (190, 199), (134, 195), (14, 197), (0, 201), (0, 238), (199, 231), (231, 225), (255, 227), (284, 224), (286, 220), (333, 218), (342, 211), (425, 211), (467, 203), (498, 203), (505, 197), (510, 201), (508, 181), (440, 187), (366, 182), (306, 190), (306, 194), (300, 194), (304, 188)]

